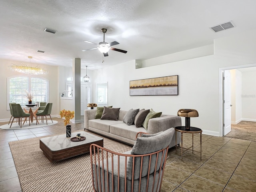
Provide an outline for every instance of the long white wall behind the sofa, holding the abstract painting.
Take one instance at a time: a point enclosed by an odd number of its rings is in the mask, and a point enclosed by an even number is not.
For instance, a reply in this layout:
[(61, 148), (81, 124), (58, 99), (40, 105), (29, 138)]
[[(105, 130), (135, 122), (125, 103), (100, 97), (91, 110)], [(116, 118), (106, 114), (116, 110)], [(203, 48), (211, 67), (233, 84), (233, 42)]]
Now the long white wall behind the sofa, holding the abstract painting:
[[(108, 105), (122, 110), (153, 108), (174, 115), (181, 108), (196, 109), (199, 117), (191, 118), (191, 125), (201, 128), (204, 134), (220, 136), (220, 68), (256, 63), (255, 32), (214, 40), (215, 54), (211, 56), (139, 69), (135, 69), (133, 60), (96, 71), (94, 78), (96, 82), (108, 82)], [(158, 60), (162, 63), (161, 57)], [(129, 96), (130, 80), (170, 75), (178, 75), (178, 96)]]

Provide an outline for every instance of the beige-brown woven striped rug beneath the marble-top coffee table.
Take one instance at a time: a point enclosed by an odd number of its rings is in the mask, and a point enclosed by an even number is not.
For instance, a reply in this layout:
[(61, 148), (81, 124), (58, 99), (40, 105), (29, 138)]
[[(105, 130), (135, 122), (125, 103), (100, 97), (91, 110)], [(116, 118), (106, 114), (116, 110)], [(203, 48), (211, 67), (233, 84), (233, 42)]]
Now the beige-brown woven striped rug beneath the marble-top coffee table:
[[(121, 153), (132, 149), (130, 145), (100, 137), (110, 150)], [(92, 192), (90, 153), (50, 162), (39, 148), (40, 138), (9, 143), (22, 192)]]

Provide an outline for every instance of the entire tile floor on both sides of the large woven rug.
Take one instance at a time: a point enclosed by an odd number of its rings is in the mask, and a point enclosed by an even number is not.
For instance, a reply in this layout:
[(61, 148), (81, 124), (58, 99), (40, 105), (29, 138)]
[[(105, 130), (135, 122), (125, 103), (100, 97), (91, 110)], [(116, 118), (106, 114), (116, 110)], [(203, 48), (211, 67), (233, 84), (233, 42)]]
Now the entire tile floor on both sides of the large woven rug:
[[(83, 118), (83, 117), (82, 117)], [(0, 129), (0, 192), (21, 192), (9, 142), (64, 134), (65, 126), (58, 124), (26, 130)], [(0, 125), (6, 122), (0, 122)], [(84, 123), (72, 124), (72, 131), (82, 130)], [(184, 134), (184, 147), (192, 144), (192, 135)], [(202, 161), (200, 135), (194, 135), (194, 154), (171, 148), (166, 162), (162, 192), (256, 192), (256, 142), (202, 134)]]

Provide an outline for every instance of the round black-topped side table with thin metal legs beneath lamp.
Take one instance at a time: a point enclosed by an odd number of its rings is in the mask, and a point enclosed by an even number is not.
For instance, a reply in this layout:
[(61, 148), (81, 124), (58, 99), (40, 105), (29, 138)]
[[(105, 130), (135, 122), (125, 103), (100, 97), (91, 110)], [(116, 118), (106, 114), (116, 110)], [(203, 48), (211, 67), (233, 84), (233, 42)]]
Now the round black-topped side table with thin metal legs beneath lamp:
[[(194, 133), (200, 133), (200, 160), (202, 161), (202, 129), (197, 128), (197, 127), (190, 127), (189, 129), (186, 129), (185, 126), (178, 126), (175, 127), (175, 150), (177, 153), (177, 131), (181, 132), (181, 160), (182, 160), (182, 155), (183, 155), (183, 133), (192, 133), (192, 153), (194, 153)], [(190, 148), (191, 148), (190, 147)], [(190, 149), (187, 148), (186, 150)], [(186, 151), (185, 150), (185, 151)]]

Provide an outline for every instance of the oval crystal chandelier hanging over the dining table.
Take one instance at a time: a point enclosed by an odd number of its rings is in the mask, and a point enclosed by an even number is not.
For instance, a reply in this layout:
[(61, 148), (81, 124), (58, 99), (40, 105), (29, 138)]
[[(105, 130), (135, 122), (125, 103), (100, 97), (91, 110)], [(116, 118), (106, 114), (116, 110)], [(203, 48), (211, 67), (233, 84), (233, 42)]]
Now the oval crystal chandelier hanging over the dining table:
[[(30, 62), (33, 57), (28, 56), (28, 58), (30, 59), (29, 60)], [(19, 65), (13, 64), (12, 66), (10, 66), (10, 70), (20, 72), (23, 74), (28, 74), (28, 75), (44, 75), (49, 73), (48, 70), (44, 68), (39, 68), (38, 66), (32, 67), (31, 65), (27, 66), (25, 64), (19, 64)]]

